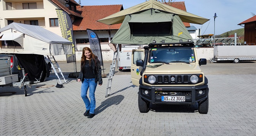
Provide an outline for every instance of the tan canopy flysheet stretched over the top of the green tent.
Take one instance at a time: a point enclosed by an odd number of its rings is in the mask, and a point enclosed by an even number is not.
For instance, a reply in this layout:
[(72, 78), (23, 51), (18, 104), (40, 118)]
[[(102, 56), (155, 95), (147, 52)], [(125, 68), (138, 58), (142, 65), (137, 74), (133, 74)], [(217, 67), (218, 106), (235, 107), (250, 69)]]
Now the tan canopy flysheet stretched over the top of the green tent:
[(122, 23), (124, 17), (129, 14), (134, 14), (139, 11), (147, 10), (147, 9), (158, 9), (161, 11), (166, 11), (168, 13), (174, 13), (179, 15), (182, 22), (195, 23), (195, 24), (204, 24), (209, 19), (205, 19), (204, 17), (200, 17), (181, 9), (174, 8), (172, 6), (166, 5), (161, 2), (157, 2), (156, 0), (148, 0), (146, 2), (140, 3), (138, 5), (132, 6), (130, 8), (119, 11), (118, 13), (112, 14), (103, 19), (97, 20), (98, 22), (105, 23), (107, 25), (114, 25), (118, 23)]

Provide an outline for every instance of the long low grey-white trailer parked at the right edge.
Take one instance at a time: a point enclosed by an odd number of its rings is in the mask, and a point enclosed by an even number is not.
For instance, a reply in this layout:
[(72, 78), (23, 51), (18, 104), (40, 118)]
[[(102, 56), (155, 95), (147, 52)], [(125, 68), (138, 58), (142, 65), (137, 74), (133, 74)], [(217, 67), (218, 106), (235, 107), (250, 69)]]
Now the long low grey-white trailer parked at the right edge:
[(231, 61), (233, 63), (255, 61), (256, 45), (215, 46), (211, 60), (212, 62)]

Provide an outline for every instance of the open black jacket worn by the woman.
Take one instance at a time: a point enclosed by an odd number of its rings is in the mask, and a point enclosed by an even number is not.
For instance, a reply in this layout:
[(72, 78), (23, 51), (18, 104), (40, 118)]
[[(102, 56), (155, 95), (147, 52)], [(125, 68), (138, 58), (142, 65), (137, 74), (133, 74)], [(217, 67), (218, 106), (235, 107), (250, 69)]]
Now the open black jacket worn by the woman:
[[(99, 61), (98, 58), (95, 58), (95, 60), (96, 60), (96, 63), (97, 63), (97, 69), (95, 69), (94, 60), (92, 59), (92, 61), (91, 61), (93, 73), (95, 75), (95, 83), (99, 82), (99, 84), (102, 84), (100, 61)], [(84, 74), (83, 74), (82, 70), (80, 70), (78, 79), (80, 79), (82, 82), (84, 81)]]

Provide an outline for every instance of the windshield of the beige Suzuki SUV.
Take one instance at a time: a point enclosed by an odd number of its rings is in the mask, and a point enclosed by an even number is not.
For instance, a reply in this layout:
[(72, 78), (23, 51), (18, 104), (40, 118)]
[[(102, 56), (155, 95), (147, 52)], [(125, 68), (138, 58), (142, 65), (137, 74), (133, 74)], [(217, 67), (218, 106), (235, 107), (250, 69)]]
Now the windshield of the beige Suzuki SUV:
[(193, 63), (195, 55), (193, 47), (165, 47), (151, 48), (149, 52), (149, 63)]

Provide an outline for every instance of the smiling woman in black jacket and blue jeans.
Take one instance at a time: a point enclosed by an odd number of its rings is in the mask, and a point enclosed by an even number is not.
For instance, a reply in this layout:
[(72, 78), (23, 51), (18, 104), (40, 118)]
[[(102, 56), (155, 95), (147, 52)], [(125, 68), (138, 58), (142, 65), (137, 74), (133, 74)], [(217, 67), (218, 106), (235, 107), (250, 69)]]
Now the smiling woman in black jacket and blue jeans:
[[(81, 71), (78, 77), (78, 81), (82, 81), (81, 97), (86, 107), (84, 116), (92, 118), (95, 116), (94, 109), (96, 105), (94, 93), (96, 90), (97, 82), (99, 82), (99, 86), (102, 85), (102, 75), (100, 61), (88, 47), (83, 48), (83, 54), (81, 57)], [(91, 102), (87, 97), (88, 88)]]

